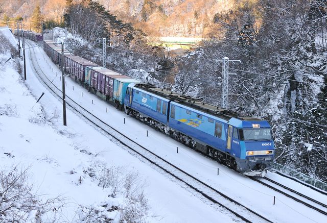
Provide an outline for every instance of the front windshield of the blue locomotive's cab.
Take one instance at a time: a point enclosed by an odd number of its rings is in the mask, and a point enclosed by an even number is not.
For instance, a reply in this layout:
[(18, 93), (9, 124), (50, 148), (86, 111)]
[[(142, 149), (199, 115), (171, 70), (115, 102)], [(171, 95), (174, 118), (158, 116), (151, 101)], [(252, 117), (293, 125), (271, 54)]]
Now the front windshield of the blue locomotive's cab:
[(240, 130), (241, 140), (271, 140), (270, 128)]

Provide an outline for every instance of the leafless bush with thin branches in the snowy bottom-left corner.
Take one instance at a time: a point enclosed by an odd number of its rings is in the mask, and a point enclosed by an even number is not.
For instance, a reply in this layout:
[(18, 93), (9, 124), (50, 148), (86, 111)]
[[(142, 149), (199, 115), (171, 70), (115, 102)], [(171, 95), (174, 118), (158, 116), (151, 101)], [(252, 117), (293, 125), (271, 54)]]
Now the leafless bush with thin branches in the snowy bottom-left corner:
[(29, 168), (14, 166), (4, 169), (0, 171), (0, 221), (21, 222), (29, 219), (54, 222), (63, 205), (61, 199), (39, 199), (33, 192), (33, 184), (29, 182)]

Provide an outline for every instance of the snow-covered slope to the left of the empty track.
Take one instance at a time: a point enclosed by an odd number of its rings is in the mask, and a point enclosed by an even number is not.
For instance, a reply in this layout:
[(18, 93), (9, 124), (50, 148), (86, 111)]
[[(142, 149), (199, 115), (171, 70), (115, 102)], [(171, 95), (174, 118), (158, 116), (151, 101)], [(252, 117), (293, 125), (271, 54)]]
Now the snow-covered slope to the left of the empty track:
[[(39, 52), (39, 48), (35, 51)], [(42, 61), (43, 57), (38, 60)], [(61, 115), (52, 119), (54, 124), (51, 125), (46, 120), (56, 117), (57, 111), (61, 113), (61, 102), (39, 83), (29, 62), (27, 53), (27, 86), (9, 62), (0, 73), (0, 105), (10, 112), (0, 116), (1, 167), (30, 166), (29, 172), (38, 194), (45, 197), (61, 195), (69, 204), (62, 211), (64, 218), (61, 220), (71, 222), (77, 219), (78, 205), (96, 206), (107, 200), (111, 191), (102, 190), (88, 172), (85, 174), (85, 170), (100, 168), (105, 163), (108, 167), (123, 167), (124, 172), (137, 172), (139, 182), (145, 181), (142, 189), (146, 191), (150, 207), (145, 219), (148, 222), (199, 222), (203, 219), (214, 222), (217, 218), (230, 221), (233, 215), (228, 211), (203, 203), (201, 197), (116, 146), (69, 109), (67, 127), (62, 126)], [(47, 72), (46, 69), (43, 71)], [(81, 93), (76, 85), (75, 91)], [(40, 104), (36, 104), (42, 92), (45, 94)], [(84, 91), (83, 97), (91, 100), (94, 95)], [(96, 104), (97, 98), (94, 100)], [(110, 106), (106, 115), (111, 116), (113, 109)], [(122, 197), (118, 199), (117, 202), (125, 205)]]

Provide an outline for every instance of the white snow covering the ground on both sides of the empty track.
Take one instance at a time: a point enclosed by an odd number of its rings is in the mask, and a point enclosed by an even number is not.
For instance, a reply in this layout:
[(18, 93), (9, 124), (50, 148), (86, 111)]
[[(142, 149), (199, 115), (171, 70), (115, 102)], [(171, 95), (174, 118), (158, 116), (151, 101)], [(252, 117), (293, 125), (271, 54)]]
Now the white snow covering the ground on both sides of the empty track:
[[(29, 47), (33, 44), (29, 43)], [(51, 80), (54, 79), (54, 84), (59, 88), (60, 75), (56, 77), (56, 73), (60, 73), (60, 69), (49, 60), (40, 47), (28, 49), (26, 56), (26, 82), (21, 81), (17, 71), (12, 68), (12, 62), (1, 67), (0, 111), (6, 108), (6, 111), (11, 112), (0, 116), (0, 166), (30, 166), (29, 171), (38, 194), (44, 194), (44, 197), (61, 195), (65, 203), (69, 204), (62, 210), (62, 221), (76, 220), (79, 205), (99, 207), (102, 202), (108, 200), (112, 188), (103, 190), (98, 186), (98, 181), (89, 176), (93, 171), (97, 174), (95, 170), (103, 165), (108, 168), (122, 167), (124, 172), (137, 172), (138, 182), (144, 185), (142, 189), (148, 199), (149, 210), (144, 219), (147, 222), (238, 221), (225, 209), (208, 202), (180, 182), (112, 143), (107, 136), (69, 110), (69, 107), (67, 127), (62, 126), (62, 104), (39, 82), (31, 65), (31, 56), (37, 59), (41, 70)], [(1, 57), (1, 64), (7, 57), (10, 55)], [(115, 110), (72, 79), (66, 78), (66, 82), (66, 94), (110, 126), (273, 222), (326, 221), (325, 215), (251, 181)], [(44, 96), (35, 104), (42, 92)], [(10, 109), (7, 109), (8, 107)], [(49, 123), (47, 120), (52, 117), (52, 123)], [(146, 131), (149, 132), (149, 137), (146, 137)], [(327, 197), (305, 186), (270, 172), (267, 176), (327, 203)], [(144, 181), (145, 184), (142, 183)], [(126, 193), (122, 192), (115, 198), (111, 203), (120, 204), (122, 207), (128, 205)], [(119, 213), (116, 214), (115, 217), (118, 218)]]

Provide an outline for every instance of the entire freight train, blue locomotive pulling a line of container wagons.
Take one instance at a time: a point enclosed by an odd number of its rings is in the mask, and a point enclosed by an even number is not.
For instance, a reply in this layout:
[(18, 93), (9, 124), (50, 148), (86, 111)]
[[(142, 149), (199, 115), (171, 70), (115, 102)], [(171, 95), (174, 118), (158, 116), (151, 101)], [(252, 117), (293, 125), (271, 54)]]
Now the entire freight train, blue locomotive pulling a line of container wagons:
[[(61, 66), (61, 45), (43, 41), (45, 53)], [(116, 108), (247, 176), (264, 176), (274, 159), (266, 120), (238, 117), (172, 91), (140, 83), (79, 56), (64, 52), (64, 70)]]

